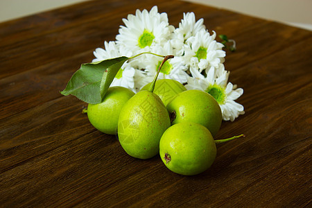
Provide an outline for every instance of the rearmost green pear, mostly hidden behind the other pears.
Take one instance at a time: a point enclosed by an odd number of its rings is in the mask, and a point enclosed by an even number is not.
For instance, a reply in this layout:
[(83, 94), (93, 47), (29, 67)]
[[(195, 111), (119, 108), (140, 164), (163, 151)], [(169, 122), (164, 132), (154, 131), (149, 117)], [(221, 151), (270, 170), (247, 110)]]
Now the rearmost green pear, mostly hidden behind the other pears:
[[(148, 90), (151, 83), (148, 83), (141, 90)], [(172, 99), (180, 92), (186, 91), (187, 88), (176, 80), (163, 79), (157, 80), (155, 84), (154, 93), (162, 99), (166, 106)]]

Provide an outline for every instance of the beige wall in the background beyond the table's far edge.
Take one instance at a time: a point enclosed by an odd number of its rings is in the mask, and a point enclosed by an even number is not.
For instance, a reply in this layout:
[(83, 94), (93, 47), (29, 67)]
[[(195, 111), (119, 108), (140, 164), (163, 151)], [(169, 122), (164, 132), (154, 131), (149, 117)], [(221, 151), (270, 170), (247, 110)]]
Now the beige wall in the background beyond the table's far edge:
[[(0, 0), (0, 21), (88, 0)], [(312, 30), (312, 0), (184, 0)]]

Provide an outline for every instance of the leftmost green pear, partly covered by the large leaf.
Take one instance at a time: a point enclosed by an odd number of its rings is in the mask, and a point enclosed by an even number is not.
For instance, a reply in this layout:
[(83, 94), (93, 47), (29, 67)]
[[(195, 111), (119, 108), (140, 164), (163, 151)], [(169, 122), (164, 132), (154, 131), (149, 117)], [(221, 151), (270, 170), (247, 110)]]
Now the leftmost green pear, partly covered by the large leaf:
[(102, 103), (88, 105), (90, 123), (105, 134), (116, 135), (121, 108), (134, 95), (128, 88), (110, 87)]

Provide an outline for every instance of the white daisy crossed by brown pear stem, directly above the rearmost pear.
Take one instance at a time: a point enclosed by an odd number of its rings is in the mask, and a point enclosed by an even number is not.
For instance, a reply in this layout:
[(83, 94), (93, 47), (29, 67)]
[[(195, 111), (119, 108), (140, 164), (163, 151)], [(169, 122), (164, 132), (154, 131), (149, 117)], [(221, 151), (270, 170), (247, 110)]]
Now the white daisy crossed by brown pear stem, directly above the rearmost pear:
[[(155, 46), (152, 52), (161, 55), (171, 55), (173, 54), (173, 48), (170, 42), (166, 42), (163, 47)], [(155, 76), (162, 60), (164, 60), (164, 58), (153, 57), (146, 61), (146, 72), (148, 73), (148, 76)], [(183, 59), (179, 56), (175, 56), (174, 58), (164, 62), (162, 69), (160, 69), (158, 78), (166, 78), (177, 80), (180, 83), (187, 83), (187, 78), (189, 77), (186, 72), (187, 69), (188, 67), (184, 64)]]

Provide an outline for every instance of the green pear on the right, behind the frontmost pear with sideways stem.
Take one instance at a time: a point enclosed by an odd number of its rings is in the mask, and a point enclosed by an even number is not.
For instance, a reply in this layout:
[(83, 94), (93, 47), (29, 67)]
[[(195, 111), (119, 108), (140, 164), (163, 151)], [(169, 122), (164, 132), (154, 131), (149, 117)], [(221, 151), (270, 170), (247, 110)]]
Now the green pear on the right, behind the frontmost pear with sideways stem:
[(166, 106), (171, 124), (194, 122), (204, 125), (214, 137), (222, 123), (220, 106), (207, 92), (191, 89), (177, 94)]

